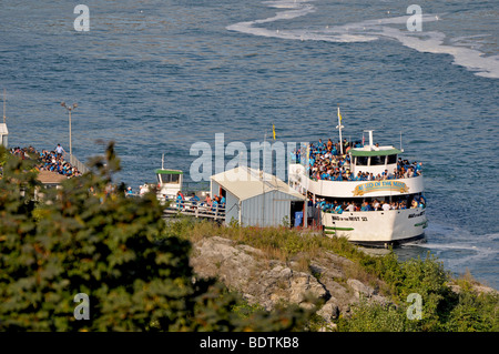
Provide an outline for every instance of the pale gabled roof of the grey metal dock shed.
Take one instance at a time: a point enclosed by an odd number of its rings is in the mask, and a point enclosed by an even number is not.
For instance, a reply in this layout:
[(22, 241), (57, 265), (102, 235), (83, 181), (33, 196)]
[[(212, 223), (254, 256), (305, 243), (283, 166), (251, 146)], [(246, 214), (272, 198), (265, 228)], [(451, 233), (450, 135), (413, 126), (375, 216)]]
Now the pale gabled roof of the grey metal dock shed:
[(212, 175), (211, 179), (237, 196), (241, 201), (271, 191), (279, 191), (296, 198), (296, 200), (305, 200), (305, 196), (292, 189), (283, 180), (247, 166), (238, 166)]

